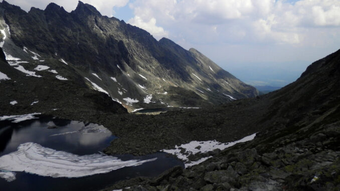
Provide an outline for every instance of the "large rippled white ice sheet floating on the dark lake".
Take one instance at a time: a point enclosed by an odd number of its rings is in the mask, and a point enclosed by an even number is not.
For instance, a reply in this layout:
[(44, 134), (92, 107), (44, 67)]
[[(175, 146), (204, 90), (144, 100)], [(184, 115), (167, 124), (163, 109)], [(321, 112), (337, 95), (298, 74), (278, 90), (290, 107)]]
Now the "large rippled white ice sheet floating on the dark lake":
[(156, 159), (122, 161), (104, 154), (79, 156), (28, 142), (20, 144), (17, 151), (0, 157), (0, 168), (42, 176), (81, 177), (107, 173), (125, 166), (138, 166)]

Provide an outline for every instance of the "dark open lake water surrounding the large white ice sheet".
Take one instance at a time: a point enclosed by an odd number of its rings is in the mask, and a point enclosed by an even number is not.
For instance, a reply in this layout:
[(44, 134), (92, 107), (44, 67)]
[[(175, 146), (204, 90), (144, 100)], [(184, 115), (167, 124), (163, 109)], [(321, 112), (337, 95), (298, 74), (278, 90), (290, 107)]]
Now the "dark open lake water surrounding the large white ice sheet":
[[(49, 129), (49, 126), (57, 128)], [(112, 136), (102, 126), (78, 121), (51, 117), (40, 117), (20, 123), (5, 120), (0, 121), (0, 158), (18, 151), (19, 145), (28, 142), (79, 156), (93, 155), (103, 150), (115, 138), (117, 137)], [(175, 165), (184, 167), (183, 162), (168, 157), (163, 152), (139, 157), (132, 155), (117, 157), (123, 161), (157, 159), (137, 166), (122, 167), (83, 177), (51, 177), (15, 171), (16, 179), (11, 182), (0, 178), (0, 190), (97, 190), (118, 180), (136, 176), (156, 176)]]

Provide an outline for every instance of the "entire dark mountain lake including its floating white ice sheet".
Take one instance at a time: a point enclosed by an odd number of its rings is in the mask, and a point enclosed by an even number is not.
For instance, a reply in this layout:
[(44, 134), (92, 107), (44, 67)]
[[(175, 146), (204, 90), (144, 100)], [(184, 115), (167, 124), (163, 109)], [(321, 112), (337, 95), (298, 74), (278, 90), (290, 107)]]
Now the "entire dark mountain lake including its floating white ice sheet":
[(0, 121), (0, 189), (97, 190), (184, 167), (163, 152), (138, 157), (101, 153), (115, 138), (101, 125), (46, 116)]

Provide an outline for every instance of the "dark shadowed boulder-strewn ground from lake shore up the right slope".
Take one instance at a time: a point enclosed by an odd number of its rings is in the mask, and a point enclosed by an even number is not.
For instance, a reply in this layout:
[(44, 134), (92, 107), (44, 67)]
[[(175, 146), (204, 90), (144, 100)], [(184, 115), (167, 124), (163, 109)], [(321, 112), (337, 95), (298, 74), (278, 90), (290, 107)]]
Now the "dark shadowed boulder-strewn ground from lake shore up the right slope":
[[(214, 107), (135, 115), (99, 106), (91, 111), (94, 108), (79, 104), (85, 112), (46, 109), (43, 113), (103, 124), (119, 137), (105, 149), (108, 154), (143, 155), (192, 140), (230, 142), (257, 132), (252, 141), (190, 157), (195, 161), (213, 156), (201, 164), (175, 167), (155, 178), (112, 182), (107, 190), (338, 190), (339, 63), (337, 51), (278, 91)], [(4, 83), (9, 81), (0, 85)]]

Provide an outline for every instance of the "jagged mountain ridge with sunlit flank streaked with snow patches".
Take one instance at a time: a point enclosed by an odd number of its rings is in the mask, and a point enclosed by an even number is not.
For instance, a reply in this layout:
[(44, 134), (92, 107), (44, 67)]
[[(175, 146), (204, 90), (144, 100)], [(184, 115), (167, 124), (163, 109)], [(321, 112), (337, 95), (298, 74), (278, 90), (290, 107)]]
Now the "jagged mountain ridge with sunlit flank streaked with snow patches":
[(1, 47), (12, 66), (34, 70), (43, 65), (58, 72), (44, 78), (59, 75), (71, 81), (81, 76), (78, 81), (107, 93), (129, 111), (208, 106), (257, 95), (255, 88), (197, 50), (187, 51), (165, 38), (156, 41), (82, 2), (71, 13), (53, 3), (44, 11), (26, 13), (3, 1), (0, 23)]

